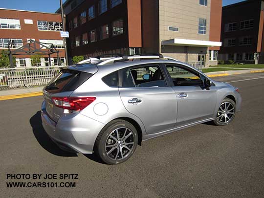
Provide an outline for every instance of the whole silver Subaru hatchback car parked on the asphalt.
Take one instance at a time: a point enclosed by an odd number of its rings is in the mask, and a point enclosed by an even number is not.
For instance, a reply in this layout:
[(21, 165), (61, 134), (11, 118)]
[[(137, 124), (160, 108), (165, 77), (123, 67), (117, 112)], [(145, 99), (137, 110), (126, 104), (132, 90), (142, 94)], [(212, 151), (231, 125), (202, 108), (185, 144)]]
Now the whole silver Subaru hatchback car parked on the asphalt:
[(68, 66), (44, 88), (42, 123), (62, 149), (126, 161), (142, 141), (240, 110), (238, 88), (162, 55), (91, 58)]

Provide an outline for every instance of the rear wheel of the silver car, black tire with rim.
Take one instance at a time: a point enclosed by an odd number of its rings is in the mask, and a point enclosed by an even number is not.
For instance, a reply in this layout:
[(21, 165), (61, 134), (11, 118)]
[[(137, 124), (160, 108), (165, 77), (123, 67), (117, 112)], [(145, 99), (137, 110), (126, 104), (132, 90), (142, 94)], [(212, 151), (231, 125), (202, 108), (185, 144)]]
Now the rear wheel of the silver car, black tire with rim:
[[(125, 120), (114, 120), (98, 135), (95, 152), (105, 163), (119, 164), (131, 157), (137, 142), (137, 131), (131, 123)], [(109, 153), (110, 151), (111, 153)]]

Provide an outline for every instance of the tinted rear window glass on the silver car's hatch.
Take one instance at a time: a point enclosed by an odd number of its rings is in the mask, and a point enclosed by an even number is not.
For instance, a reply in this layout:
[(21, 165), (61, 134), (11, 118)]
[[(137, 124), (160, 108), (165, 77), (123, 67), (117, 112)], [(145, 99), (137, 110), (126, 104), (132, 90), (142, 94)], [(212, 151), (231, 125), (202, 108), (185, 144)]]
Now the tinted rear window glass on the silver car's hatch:
[(91, 76), (91, 73), (63, 69), (53, 80), (51, 80), (51, 82), (45, 87), (45, 90), (49, 93), (74, 91)]

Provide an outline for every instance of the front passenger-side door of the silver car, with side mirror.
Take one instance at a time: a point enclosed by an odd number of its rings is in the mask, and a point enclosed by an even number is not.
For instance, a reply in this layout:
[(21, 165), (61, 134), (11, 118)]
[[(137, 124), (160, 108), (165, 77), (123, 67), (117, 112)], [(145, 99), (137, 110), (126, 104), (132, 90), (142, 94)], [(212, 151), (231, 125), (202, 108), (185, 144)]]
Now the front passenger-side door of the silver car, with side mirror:
[(214, 117), (216, 108), (216, 88), (206, 90), (205, 77), (190, 67), (166, 65), (172, 86), (177, 96), (176, 126)]

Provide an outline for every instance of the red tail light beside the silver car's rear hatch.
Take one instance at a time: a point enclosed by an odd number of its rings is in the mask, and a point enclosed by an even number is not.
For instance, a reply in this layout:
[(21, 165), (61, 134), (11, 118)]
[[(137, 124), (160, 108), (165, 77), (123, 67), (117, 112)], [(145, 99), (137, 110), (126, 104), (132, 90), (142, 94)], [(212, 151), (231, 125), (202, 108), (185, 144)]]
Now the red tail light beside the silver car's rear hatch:
[(66, 110), (83, 110), (95, 99), (96, 97), (52, 97), (56, 107)]

